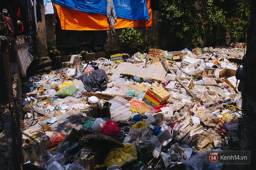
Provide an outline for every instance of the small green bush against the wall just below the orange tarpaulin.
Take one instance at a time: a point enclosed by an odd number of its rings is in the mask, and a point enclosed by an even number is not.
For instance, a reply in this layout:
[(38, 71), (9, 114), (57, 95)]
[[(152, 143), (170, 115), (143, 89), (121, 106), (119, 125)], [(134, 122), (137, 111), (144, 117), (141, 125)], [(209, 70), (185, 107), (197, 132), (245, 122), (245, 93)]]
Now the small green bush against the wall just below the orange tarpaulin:
[(140, 30), (134, 27), (122, 29), (118, 41), (121, 46), (137, 46), (142, 45), (143, 43), (143, 40), (141, 39)]

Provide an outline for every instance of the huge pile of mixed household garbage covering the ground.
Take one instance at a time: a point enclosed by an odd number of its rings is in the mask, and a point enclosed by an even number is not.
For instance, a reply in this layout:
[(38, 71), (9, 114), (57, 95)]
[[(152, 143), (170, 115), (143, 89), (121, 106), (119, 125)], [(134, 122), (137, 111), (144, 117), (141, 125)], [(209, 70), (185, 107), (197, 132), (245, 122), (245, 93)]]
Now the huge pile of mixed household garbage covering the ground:
[(22, 101), (26, 164), (221, 169), (221, 162), (206, 164), (206, 154), (238, 143), (242, 66), (236, 63), (245, 51), (150, 49), (88, 64), (73, 55), (69, 68), (30, 77)]

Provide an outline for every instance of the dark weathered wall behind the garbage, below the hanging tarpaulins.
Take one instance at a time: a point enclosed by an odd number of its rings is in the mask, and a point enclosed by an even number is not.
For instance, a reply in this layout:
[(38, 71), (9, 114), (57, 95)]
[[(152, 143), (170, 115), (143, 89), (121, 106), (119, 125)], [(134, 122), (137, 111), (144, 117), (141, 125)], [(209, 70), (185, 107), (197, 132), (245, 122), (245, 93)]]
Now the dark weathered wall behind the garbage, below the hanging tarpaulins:
[[(161, 24), (161, 12), (152, 11), (153, 24), (152, 27), (139, 27), (141, 30), (142, 39), (147, 42), (150, 38), (153, 48), (164, 48), (167, 50), (167, 46), (170, 46), (170, 41), (166, 37), (167, 28)], [(52, 23), (52, 22), (51, 22)], [(52, 26), (46, 24), (47, 30), (52, 29)], [(57, 16), (57, 23), (55, 28), (56, 33), (56, 45), (57, 49), (63, 52), (65, 55), (74, 53), (80, 53), (81, 51), (94, 52), (96, 58), (106, 57), (114, 53), (130, 53), (134, 54), (139, 50), (133, 46), (121, 47), (118, 43), (119, 35), (122, 29), (116, 29), (116, 35), (111, 36), (110, 31), (69, 31), (61, 30), (59, 19)], [(48, 32), (48, 31), (47, 31)], [(47, 33), (48, 34), (48, 33)], [(50, 34), (49, 34), (50, 35)], [(48, 37), (51, 40), (48, 40)], [(83, 37), (83, 38), (82, 38)], [(105, 39), (104, 39), (105, 38)], [(52, 41), (54, 36), (47, 35), (47, 42)], [(144, 45), (145, 46), (145, 45)], [(143, 51), (145, 47), (140, 49)], [(148, 50), (145, 50), (147, 52)], [(63, 61), (62, 61), (63, 62)]]

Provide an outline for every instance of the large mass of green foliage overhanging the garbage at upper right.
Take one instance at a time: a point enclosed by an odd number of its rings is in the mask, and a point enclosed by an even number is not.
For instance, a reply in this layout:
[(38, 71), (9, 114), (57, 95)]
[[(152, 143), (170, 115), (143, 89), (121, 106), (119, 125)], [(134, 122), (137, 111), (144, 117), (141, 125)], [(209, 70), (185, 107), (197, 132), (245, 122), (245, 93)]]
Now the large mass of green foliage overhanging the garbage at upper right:
[(194, 46), (216, 36), (217, 29), (238, 41), (249, 16), (244, 0), (161, 0), (161, 9), (173, 38)]

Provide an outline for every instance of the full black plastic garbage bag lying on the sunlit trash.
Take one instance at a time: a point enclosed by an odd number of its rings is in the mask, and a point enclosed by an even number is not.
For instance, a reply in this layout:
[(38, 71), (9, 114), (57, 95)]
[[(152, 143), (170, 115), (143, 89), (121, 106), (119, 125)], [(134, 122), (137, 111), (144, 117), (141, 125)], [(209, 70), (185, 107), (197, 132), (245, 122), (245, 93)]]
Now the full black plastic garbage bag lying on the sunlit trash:
[(94, 70), (77, 78), (83, 82), (88, 92), (104, 91), (107, 89), (109, 78), (104, 70)]

